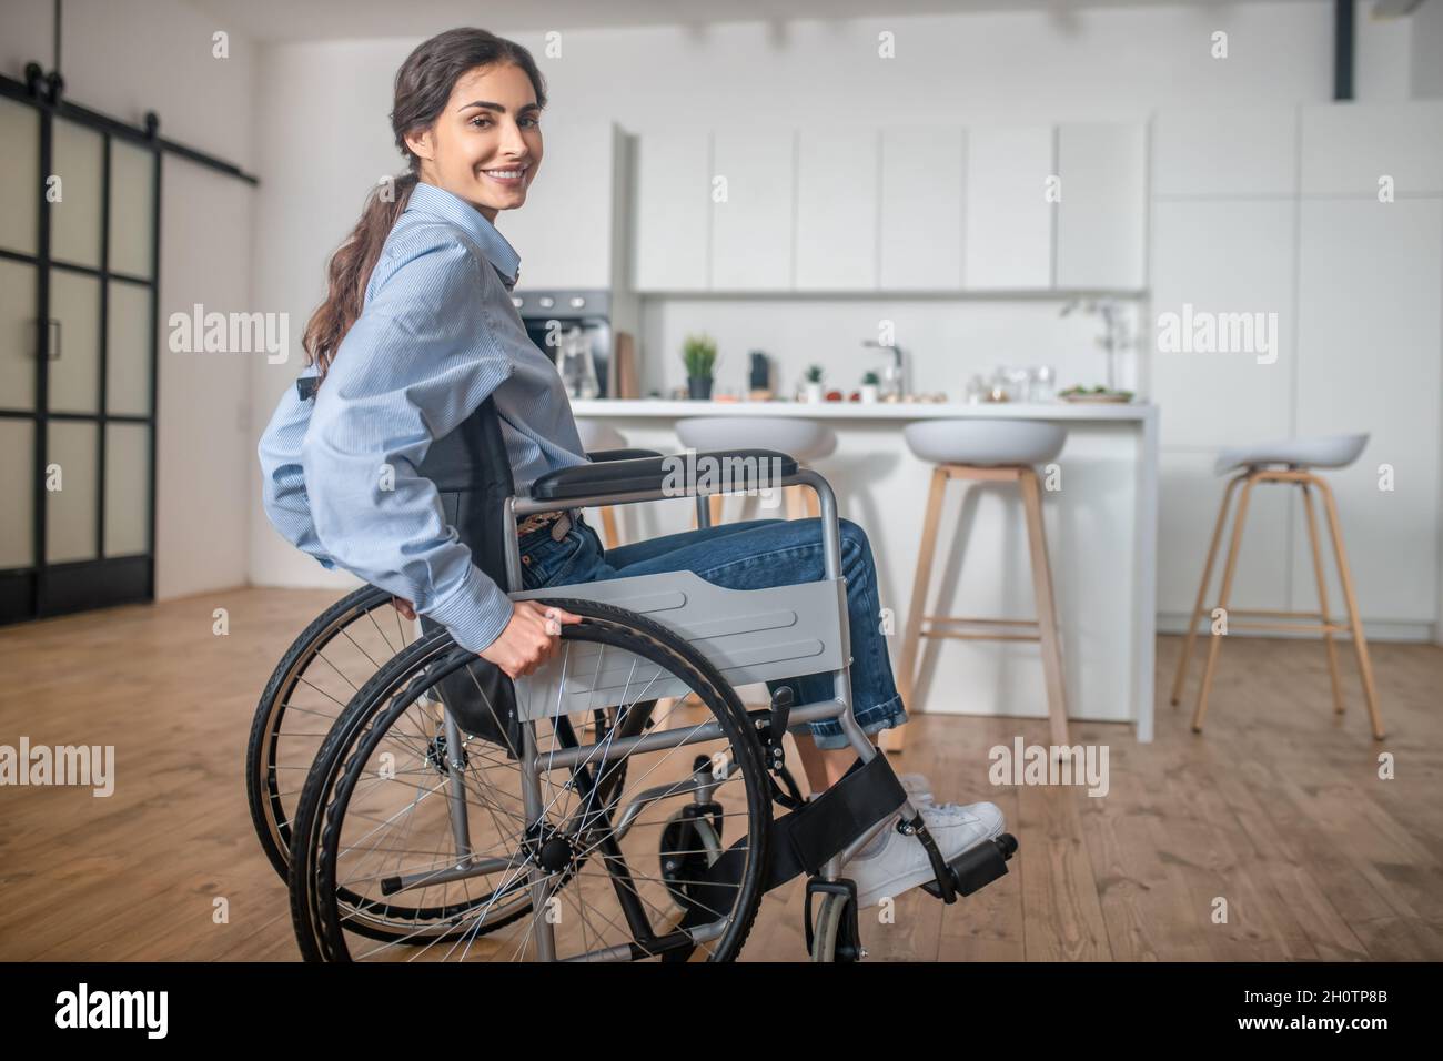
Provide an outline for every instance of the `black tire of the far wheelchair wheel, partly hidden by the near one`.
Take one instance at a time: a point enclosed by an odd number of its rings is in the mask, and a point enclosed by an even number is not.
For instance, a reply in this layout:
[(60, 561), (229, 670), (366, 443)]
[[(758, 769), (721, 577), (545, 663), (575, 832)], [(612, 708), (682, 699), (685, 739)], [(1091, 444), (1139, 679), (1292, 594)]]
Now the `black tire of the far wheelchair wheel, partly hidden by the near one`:
[[(354, 624), (369, 622), (375, 625), (377, 631), (381, 632), (381, 644), (377, 648), (381, 648), (381, 645), (385, 647), (384, 654), (371, 661), (374, 665), (365, 674), (355, 676), (358, 686), (364, 684), (371, 674), (405, 648), (410, 637), (404, 628), (397, 626), (395, 642), (392, 644), (390, 635), (381, 631), (380, 624), (375, 621), (374, 614), (378, 609), (387, 609), (400, 619), (400, 612), (391, 608), (391, 595), (388, 592), (375, 586), (362, 586), (317, 615), (300, 632), (300, 637), (291, 642), (280, 663), (276, 664), (276, 670), (271, 673), (270, 681), (266, 683), (266, 690), (261, 693), (260, 703), (255, 706), (250, 739), (245, 745), (245, 798), (251, 808), (255, 839), (260, 840), (261, 850), (266, 852), (266, 857), (270, 859), (271, 866), (276, 868), (281, 881), (286, 879), (290, 865), (290, 821), (299, 795), (299, 790), (286, 790), (281, 768), (277, 765), (278, 745), (283, 739), (290, 697), (306, 678), (312, 664), (317, 658), (323, 658), (322, 652), (326, 647), (335, 642), (336, 638), (346, 637), (348, 628)], [(390, 616), (384, 618), (390, 621)], [(365, 650), (361, 650), (361, 654), (367, 655)], [(349, 700), (354, 693), (355, 690), (346, 699)], [(319, 710), (326, 710), (326, 706), (325, 697), (313, 697), (304, 712), (315, 715)], [(319, 720), (317, 732), (329, 729), (343, 707), (345, 700), (335, 706), (329, 719)]]

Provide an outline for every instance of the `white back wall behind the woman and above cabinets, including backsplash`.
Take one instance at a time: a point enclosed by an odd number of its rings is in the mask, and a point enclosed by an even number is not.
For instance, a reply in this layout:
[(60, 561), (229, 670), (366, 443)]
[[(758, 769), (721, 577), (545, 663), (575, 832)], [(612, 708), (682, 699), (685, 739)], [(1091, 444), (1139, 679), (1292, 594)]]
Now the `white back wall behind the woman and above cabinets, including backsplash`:
[[(561, 53), (540, 33), (515, 38), (537, 56), (551, 105), (544, 127), (618, 121), (631, 131), (677, 126), (1004, 123), (1146, 120), (1159, 107), (1322, 101), (1332, 91), (1332, 4), (1157, 6), (1076, 13), (874, 17), (711, 27), (561, 29)], [(1227, 59), (1211, 56), (1228, 33)], [(890, 32), (896, 58), (877, 58)], [(1361, 97), (1391, 97), (1410, 40), (1359, 26)], [(253, 362), (258, 435), (302, 364), (299, 335), (323, 294), (326, 256), (355, 222), (371, 183), (400, 167), (385, 115), (395, 69), (417, 39), (286, 43), (264, 52), (257, 98), (257, 307), (287, 312), (296, 338), (281, 367)], [(1405, 84), (1404, 74), (1404, 82)], [(1225, 144), (1219, 146), (1225, 150)], [(540, 176), (545, 179), (545, 170)], [(499, 222), (505, 231), (505, 217)], [(518, 247), (522, 261), (527, 247)], [(742, 384), (746, 351), (776, 355), (781, 383), (828, 361), (854, 385), (880, 358), (860, 346), (876, 320), (898, 322), (922, 390), (960, 393), (1000, 362), (1052, 362), (1063, 380), (1101, 374), (1097, 322), (1058, 320), (1061, 303), (939, 299), (648, 299), (641, 345), (648, 387), (680, 381), (687, 331), (722, 341), (722, 385)], [(726, 374), (732, 375), (727, 377)], [(268, 527), (253, 481), (251, 579), (343, 585)]]

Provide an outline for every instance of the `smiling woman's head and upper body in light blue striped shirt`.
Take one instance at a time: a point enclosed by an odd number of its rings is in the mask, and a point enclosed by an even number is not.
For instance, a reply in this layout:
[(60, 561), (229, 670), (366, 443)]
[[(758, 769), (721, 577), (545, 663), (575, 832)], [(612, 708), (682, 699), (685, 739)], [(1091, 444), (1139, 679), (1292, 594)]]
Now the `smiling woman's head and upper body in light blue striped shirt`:
[[(266, 510), (322, 564), (390, 590), (506, 674), (554, 651), (557, 621), (512, 603), (449, 530), (436, 478), (470, 450), (494, 396), (517, 486), (586, 463), (560, 377), (511, 303), (519, 256), (496, 215), (541, 163), (545, 84), (531, 53), (483, 29), (418, 45), (395, 75), (391, 130), (407, 170), (382, 180), (332, 256), (306, 328), (306, 388), (261, 439)], [(431, 443), (437, 445), (431, 445)]]

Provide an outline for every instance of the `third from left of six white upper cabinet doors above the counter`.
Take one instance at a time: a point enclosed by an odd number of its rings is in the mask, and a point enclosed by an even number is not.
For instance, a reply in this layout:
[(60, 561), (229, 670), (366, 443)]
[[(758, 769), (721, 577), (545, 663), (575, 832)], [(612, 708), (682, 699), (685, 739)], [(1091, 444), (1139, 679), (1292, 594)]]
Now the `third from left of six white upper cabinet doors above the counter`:
[(876, 290), (879, 163), (879, 131), (798, 131), (797, 290)]

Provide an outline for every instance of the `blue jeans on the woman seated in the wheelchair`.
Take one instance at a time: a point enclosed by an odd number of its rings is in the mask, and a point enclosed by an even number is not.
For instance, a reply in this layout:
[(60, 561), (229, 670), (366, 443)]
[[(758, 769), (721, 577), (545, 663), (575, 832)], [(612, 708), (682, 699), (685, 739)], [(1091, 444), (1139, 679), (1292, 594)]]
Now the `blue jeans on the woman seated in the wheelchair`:
[[(560, 541), (551, 537), (550, 527), (522, 536), (521, 579), (527, 589), (659, 572), (696, 572), (727, 589), (815, 582), (824, 575), (820, 524), (817, 518), (747, 520), (603, 549), (602, 540), (583, 518)], [(866, 531), (850, 520), (838, 520), (837, 524), (851, 628), (851, 710), (863, 732), (876, 733), (906, 722), (906, 710), (892, 680), (892, 661), (880, 626), (872, 544)], [(831, 700), (835, 694), (830, 673), (766, 683), (772, 693), (782, 686), (791, 686), (798, 706)], [(847, 746), (835, 719), (792, 728), (794, 732), (807, 729), (818, 748)]]

